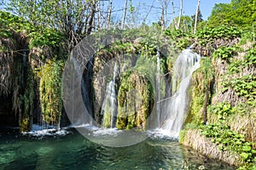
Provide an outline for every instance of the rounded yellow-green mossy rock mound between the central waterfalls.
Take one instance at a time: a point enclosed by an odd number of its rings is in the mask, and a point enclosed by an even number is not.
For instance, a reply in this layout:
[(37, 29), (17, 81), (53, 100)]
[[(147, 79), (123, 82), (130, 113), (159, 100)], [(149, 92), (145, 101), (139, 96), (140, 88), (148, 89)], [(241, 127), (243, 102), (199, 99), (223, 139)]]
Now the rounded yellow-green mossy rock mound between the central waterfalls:
[(152, 87), (148, 78), (138, 71), (131, 71), (123, 77), (118, 94), (118, 115), (116, 127), (129, 129), (142, 126), (150, 113)]

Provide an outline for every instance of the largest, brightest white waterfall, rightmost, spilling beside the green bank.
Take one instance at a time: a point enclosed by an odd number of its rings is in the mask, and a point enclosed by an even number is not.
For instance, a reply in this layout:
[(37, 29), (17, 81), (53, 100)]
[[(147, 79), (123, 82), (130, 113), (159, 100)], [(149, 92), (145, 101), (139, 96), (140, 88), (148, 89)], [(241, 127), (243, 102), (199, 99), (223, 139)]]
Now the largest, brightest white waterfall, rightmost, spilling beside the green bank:
[(200, 55), (185, 49), (177, 57), (172, 73), (172, 97), (165, 99), (161, 105), (161, 128), (167, 130), (173, 137), (183, 127), (183, 121), (189, 108), (189, 86), (192, 73), (200, 66)]

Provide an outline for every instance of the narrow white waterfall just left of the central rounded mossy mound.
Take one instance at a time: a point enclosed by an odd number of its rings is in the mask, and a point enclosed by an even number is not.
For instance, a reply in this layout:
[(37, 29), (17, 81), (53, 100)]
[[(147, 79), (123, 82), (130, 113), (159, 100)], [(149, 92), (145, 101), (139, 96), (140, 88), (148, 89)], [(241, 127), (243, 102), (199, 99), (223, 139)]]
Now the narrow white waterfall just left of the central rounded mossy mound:
[(105, 98), (102, 103), (102, 112), (103, 115), (103, 127), (115, 127), (116, 114), (117, 114), (117, 99), (114, 89), (115, 77), (117, 76), (118, 70), (116, 62), (113, 67), (113, 79), (108, 82), (106, 88)]

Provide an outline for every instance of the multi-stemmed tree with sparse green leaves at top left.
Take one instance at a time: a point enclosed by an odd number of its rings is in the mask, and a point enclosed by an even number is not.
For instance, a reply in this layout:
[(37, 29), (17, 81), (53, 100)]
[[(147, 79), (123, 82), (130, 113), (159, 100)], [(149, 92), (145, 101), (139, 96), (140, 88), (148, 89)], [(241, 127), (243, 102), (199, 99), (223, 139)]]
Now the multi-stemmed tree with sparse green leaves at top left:
[[(7, 10), (28, 20), (38, 29), (49, 27), (65, 34), (72, 49), (95, 28), (98, 0), (9, 0)], [(2, 3), (3, 0), (2, 0)]]

